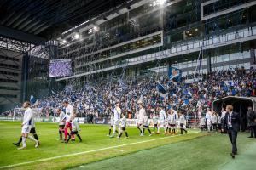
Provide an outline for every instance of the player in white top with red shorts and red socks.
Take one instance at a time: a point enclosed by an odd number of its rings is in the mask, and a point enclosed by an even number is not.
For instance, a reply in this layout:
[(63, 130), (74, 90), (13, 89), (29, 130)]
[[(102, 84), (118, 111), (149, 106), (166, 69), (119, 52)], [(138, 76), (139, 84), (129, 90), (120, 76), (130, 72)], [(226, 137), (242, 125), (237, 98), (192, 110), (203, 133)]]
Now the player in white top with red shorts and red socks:
[[(72, 126), (71, 126), (71, 122), (73, 121), (73, 119), (75, 118), (75, 114), (73, 111), (73, 106), (69, 105), (67, 99), (64, 99), (63, 101), (63, 106), (64, 106), (64, 111), (65, 111), (65, 116), (63, 118), (62, 121), (65, 121), (65, 127), (64, 127), (64, 140), (67, 141), (67, 133), (68, 133), (68, 129), (70, 130), (70, 132), (72, 131)], [(74, 140), (74, 135), (72, 135), (72, 140)]]

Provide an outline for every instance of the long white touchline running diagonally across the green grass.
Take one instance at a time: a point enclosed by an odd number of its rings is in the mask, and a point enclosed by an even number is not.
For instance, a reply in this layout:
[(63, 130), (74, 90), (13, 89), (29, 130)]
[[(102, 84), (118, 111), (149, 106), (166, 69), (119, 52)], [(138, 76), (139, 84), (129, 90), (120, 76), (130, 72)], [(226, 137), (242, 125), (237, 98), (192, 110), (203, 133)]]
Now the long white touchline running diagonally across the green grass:
[[(199, 133), (199, 132), (194, 132), (194, 133)], [(193, 134), (193, 133), (189, 133), (189, 134)], [(62, 157), (79, 156), (79, 155), (84, 155), (84, 154), (88, 154), (88, 153), (91, 153), (91, 152), (109, 150), (109, 149), (119, 148), (119, 147), (122, 147), (122, 146), (133, 145), (133, 144), (143, 144), (143, 143), (151, 142), (151, 141), (154, 141), (154, 140), (169, 139), (169, 138), (173, 138), (173, 137), (177, 137), (177, 136), (181, 136), (181, 134), (178, 134), (176, 136), (167, 136), (167, 137), (158, 138), (158, 139), (143, 140), (143, 141), (134, 142), (134, 143), (130, 143), (130, 144), (120, 144), (120, 145), (116, 145), (116, 146), (109, 146), (109, 147), (101, 148), (101, 149), (97, 149), (97, 150), (87, 150), (87, 151), (77, 152), (77, 153), (73, 153), (73, 154), (67, 154), (67, 155), (63, 155), (63, 156), (54, 156), (54, 157), (49, 157), (49, 158), (44, 158), (44, 159), (38, 159), (38, 160), (35, 160), (35, 161), (26, 161), (26, 162), (22, 162), (22, 163), (16, 163), (16, 164), (13, 164), (13, 165), (2, 166), (2, 167), (0, 167), (0, 169), (7, 168), (7, 167), (18, 167), (18, 166), (21, 166), (21, 165), (27, 165), (27, 164), (31, 164), (31, 163), (35, 163), (35, 162), (40, 162), (40, 161), (51, 161), (53, 159), (58, 159), (58, 158), (62, 158)]]

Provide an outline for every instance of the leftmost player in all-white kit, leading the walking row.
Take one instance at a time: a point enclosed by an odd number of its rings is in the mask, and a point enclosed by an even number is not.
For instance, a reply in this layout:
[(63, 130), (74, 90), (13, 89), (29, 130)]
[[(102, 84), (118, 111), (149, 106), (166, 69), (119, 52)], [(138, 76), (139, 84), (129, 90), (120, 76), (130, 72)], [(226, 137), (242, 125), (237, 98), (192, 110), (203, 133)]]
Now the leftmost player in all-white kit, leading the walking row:
[(24, 118), (23, 118), (23, 122), (21, 124), (21, 135), (22, 135), (22, 147), (18, 148), (18, 150), (23, 150), (26, 149), (26, 139), (31, 139), (32, 141), (34, 141), (36, 143), (35, 147), (38, 147), (38, 140), (34, 139), (32, 136), (29, 136), (28, 134), (30, 133), (30, 130), (32, 128), (32, 114), (33, 111), (30, 108), (31, 104), (30, 102), (26, 101), (23, 104), (23, 107), (25, 108), (25, 113), (24, 113)]

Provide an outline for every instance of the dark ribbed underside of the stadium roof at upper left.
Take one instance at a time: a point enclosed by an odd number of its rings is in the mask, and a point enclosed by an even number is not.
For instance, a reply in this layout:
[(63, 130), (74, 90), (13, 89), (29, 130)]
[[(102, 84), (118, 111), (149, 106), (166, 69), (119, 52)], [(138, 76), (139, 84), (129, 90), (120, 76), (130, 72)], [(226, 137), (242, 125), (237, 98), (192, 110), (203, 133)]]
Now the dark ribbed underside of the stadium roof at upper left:
[[(40, 43), (131, 0), (1, 0), (0, 35)], [(20, 31), (20, 34), (19, 32)], [(17, 35), (15, 37), (14, 35)], [(25, 37), (27, 38), (25, 35)], [(24, 38), (23, 38), (24, 39)]]

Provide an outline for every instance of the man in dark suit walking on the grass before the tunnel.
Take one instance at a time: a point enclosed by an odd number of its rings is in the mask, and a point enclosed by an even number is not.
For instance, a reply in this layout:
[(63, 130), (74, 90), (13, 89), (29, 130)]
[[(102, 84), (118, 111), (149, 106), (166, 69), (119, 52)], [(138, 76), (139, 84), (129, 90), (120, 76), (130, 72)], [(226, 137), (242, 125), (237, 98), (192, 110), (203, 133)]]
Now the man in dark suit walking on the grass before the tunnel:
[(232, 105), (226, 106), (226, 114), (224, 116), (224, 121), (222, 123), (223, 132), (224, 127), (227, 128), (227, 132), (230, 137), (230, 142), (232, 144), (232, 153), (230, 153), (230, 156), (232, 156), (232, 158), (234, 159), (235, 155), (237, 155), (236, 138), (237, 133), (240, 130), (240, 115), (239, 113), (233, 111)]

